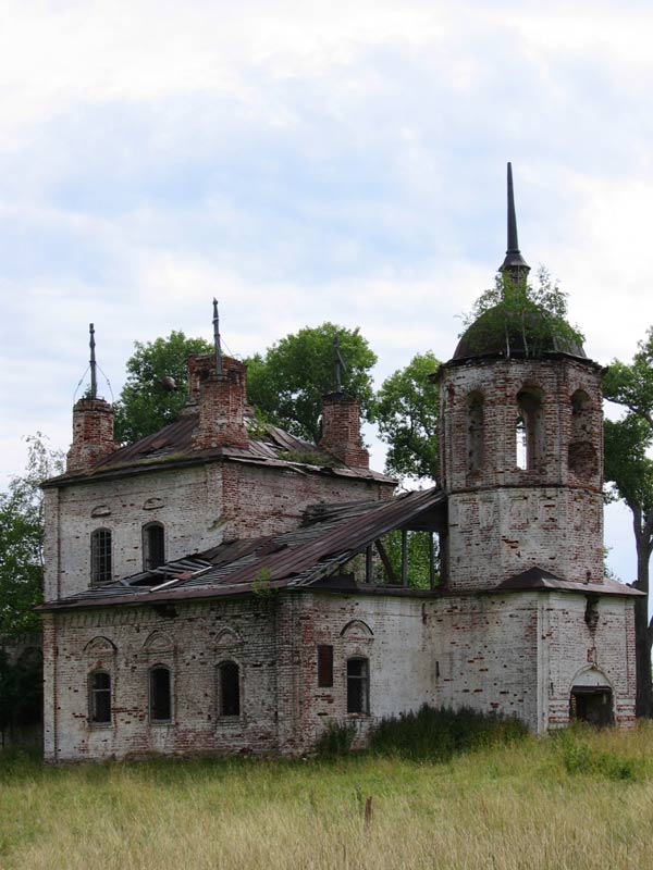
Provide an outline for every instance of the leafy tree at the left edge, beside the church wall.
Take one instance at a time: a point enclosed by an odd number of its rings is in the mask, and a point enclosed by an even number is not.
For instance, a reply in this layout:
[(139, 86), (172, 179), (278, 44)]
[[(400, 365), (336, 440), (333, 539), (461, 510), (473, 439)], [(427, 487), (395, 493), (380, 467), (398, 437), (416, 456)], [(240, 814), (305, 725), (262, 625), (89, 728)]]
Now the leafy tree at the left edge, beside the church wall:
[(63, 453), (37, 433), (27, 438), (25, 473), (0, 493), (0, 636), (39, 629), (32, 607), (42, 600), (44, 517), (39, 484), (63, 471)]

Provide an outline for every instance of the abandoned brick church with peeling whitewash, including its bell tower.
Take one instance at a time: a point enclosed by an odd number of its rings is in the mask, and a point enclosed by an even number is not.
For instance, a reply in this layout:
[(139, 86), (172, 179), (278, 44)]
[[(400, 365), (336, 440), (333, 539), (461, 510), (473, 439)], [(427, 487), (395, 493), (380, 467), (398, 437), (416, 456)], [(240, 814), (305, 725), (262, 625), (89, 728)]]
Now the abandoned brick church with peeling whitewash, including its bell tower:
[(44, 484), (46, 759), (298, 755), (330, 723), (364, 743), (423, 704), (539, 734), (631, 723), (638, 593), (604, 576), (602, 370), (483, 326), (436, 375), (439, 484), (405, 495), (370, 470), (342, 391), (317, 445), (252, 434), (245, 365), (219, 343), (189, 359), (178, 420), (126, 447), (94, 380)]

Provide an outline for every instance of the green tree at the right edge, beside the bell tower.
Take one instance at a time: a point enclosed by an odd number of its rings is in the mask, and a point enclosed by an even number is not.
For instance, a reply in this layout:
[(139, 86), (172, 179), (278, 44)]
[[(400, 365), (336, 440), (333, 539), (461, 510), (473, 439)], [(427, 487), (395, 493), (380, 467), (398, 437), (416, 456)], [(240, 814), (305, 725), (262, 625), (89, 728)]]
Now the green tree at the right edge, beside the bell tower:
[(606, 420), (605, 480), (613, 493), (632, 513), (637, 551), (636, 588), (645, 593), (634, 604), (637, 652), (637, 712), (653, 713), (651, 693), (651, 647), (653, 621), (649, 620), (649, 580), (653, 550), (653, 328), (639, 343), (632, 362), (615, 360), (605, 374), (606, 399), (625, 408), (620, 420)]

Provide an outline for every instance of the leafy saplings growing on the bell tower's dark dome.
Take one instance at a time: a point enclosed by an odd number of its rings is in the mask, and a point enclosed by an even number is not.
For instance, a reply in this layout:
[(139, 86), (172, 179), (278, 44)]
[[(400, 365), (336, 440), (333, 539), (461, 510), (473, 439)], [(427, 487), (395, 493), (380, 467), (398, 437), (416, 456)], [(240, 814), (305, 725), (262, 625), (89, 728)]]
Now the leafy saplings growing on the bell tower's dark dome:
[(492, 346), (505, 349), (508, 357), (515, 349), (535, 357), (543, 350), (582, 346), (582, 334), (567, 322), (567, 294), (544, 268), (537, 278), (532, 284), (526, 275), (496, 275), (494, 287), (484, 290), (464, 318), (472, 351)]

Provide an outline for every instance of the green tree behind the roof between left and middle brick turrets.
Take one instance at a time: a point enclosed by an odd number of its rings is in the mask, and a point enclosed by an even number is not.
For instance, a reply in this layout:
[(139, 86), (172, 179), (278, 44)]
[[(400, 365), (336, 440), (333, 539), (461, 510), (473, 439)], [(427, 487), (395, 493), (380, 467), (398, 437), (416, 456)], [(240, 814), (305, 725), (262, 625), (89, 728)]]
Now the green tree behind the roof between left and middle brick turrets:
[[(175, 331), (147, 344), (135, 341), (134, 348), (126, 364), (127, 380), (115, 403), (119, 444), (133, 444), (174, 422), (188, 398), (188, 357), (213, 350), (204, 338), (186, 338)], [(176, 384), (172, 393), (161, 384), (167, 375)]]

